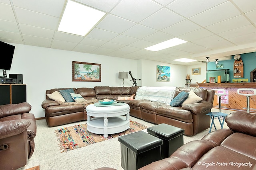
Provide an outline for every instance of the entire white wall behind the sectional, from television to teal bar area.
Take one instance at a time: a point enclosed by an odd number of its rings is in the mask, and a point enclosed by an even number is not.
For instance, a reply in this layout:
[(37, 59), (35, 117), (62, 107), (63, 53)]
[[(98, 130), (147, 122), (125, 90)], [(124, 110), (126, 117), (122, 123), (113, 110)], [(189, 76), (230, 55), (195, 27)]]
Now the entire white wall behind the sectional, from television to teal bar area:
[[(156, 61), (123, 59), (21, 44), (12, 45), (15, 46), (15, 51), (11, 70), (6, 70), (7, 76), (23, 74), (23, 83), (27, 85), (27, 102), (31, 104), (31, 113), (34, 113), (36, 118), (44, 117), (41, 104), (45, 99), (46, 90), (52, 88), (122, 86), (122, 79), (118, 78), (119, 71), (131, 71), (134, 78), (141, 79), (137, 80), (137, 86), (184, 87), (186, 74), (188, 70), (191, 72), (187, 66)], [(72, 61), (101, 64), (101, 82), (72, 82)], [(170, 66), (170, 82), (156, 81), (157, 65)], [(200, 67), (201, 72), (205, 72), (202, 66)], [(133, 81), (130, 80), (132, 78), (128, 74), (128, 78), (124, 79), (125, 86), (132, 86)]]

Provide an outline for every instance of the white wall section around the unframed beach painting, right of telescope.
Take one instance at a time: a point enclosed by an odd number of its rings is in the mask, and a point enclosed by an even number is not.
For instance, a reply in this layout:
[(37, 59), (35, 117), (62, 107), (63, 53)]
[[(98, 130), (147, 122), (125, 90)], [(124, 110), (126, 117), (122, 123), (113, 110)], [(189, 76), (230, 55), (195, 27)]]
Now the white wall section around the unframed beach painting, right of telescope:
[[(186, 84), (186, 75), (187, 75), (187, 66), (175, 65), (162, 63), (157, 61), (150, 60), (141, 60), (141, 80), (142, 86), (174, 86), (174, 87), (185, 87)], [(158, 82), (156, 81), (156, 67), (160, 66), (170, 66), (170, 82)]]

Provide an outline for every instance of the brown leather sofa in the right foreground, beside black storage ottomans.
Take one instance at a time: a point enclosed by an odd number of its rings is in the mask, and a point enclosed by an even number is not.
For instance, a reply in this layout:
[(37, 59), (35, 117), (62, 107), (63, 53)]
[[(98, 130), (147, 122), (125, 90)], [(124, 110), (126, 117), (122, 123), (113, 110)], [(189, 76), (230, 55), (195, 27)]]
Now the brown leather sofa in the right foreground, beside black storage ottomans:
[(236, 111), (226, 117), (229, 129), (213, 131), (139, 170), (255, 170), (256, 114)]

